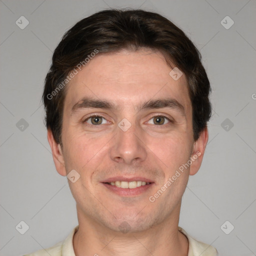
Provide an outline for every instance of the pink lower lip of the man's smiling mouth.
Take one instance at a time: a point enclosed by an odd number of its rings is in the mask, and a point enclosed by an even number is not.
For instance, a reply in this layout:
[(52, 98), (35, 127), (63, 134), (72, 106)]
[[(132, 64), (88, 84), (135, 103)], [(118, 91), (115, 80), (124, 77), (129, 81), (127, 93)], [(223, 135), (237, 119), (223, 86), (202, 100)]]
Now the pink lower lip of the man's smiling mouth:
[(143, 186), (138, 186), (136, 188), (121, 188), (118, 186), (114, 186), (111, 184), (107, 184), (107, 183), (102, 183), (106, 188), (108, 188), (109, 190), (111, 190), (112, 192), (121, 195), (121, 196), (136, 196), (139, 194), (144, 193), (145, 191), (147, 191), (148, 189), (150, 189), (152, 187), (152, 185), (154, 183), (149, 183)]

